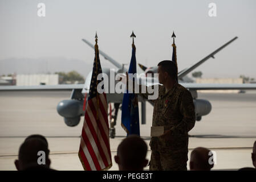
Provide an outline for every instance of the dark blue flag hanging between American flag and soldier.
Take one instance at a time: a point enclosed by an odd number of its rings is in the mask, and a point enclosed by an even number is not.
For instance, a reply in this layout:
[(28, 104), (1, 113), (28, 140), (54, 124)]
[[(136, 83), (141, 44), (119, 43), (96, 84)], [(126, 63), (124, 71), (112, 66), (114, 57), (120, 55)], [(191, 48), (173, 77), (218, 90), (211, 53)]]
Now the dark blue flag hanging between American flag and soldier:
[[(135, 45), (132, 44), (132, 59), (128, 73), (137, 73), (135, 52)], [(121, 126), (127, 132), (127, 136), (131, 134), (140, 136), (138, 96), (135, 93), (128, 93), (128, 90), (123, 98)]]

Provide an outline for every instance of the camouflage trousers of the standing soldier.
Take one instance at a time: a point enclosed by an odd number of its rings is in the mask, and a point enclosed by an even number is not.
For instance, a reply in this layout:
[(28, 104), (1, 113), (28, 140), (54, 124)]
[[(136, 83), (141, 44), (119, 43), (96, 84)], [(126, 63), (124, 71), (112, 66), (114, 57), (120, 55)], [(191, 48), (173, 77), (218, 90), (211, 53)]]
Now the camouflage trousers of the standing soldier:
[[(162, 148), (161, 148), (162, 149)], [(152, 150), (150, 171), (186, 171), (188, 151)]]

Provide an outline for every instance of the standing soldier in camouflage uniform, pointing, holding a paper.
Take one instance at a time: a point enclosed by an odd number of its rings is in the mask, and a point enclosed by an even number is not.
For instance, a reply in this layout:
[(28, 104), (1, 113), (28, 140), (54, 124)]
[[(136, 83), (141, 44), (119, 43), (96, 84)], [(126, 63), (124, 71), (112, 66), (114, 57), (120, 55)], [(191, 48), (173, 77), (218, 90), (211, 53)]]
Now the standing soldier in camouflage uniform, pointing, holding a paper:
[[(177, 82), (177, 66), (165, 60), (158, 64), (159, 97), (154, 102), (152, 126), (164, 126), (164, 134), (152, 137), (149, 170), (186, 170), (188, 132), (194, 127), (191, 93)], [(144, 98), (148, 93), (139, 94)]]

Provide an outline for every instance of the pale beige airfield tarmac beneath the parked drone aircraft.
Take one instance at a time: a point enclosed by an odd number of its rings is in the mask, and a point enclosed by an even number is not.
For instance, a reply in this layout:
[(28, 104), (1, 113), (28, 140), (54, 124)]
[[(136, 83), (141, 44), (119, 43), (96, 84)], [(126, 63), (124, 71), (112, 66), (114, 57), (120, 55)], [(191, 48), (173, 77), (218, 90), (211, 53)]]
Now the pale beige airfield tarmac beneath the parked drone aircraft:
[[(71, 92), (0, 92), (0, 170), (16, 170), (14, 160), (23, 140), (30, 134), (46, 136), (51, 167), (58, 170), (83, 170), (78, 158), (83, 118), (78, 126), (68, 127), (56, 106), (68, 100)], [(217, 154), (213, 169), (253, 167), (251, 151), (256, 140), (256, 92), (198, 93), (212, 104), (210, 114), (196, 122), (189, 132), (189, 155), (193, 148), (208, 147)], [(147, 104), (147, 123), (140, 125), (141, 137), (149, 144), (153, 107)], [(113, 160), (116, 149), (126, 136), (117, 117), (116, 138), (110, 139)], [(148, 148), (147, 159), (151, 151)], [(189, 164), (189, 161), (188, 161)], [(187, 166), (189, 169), (189, 165)], [(145, 168), (145, 169), (148, 169)]]

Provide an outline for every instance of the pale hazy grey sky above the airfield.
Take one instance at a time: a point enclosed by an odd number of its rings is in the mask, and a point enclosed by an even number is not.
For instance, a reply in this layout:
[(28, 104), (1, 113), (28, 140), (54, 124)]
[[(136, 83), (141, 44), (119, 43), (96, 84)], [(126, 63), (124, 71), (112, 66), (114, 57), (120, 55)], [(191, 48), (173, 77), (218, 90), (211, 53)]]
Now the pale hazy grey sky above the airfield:
[[(38, 3), (46, 17), (37, 15)], [(208, 15), (216, 3), (217, 16)], [(11, 1), (0, 0), (0, 60), (10, 57), (65, 57), (92, 64), (94, 43), (120, 63), (131, 59), (130, 35), (137, 36), (137, 63), (154, 66), (172, 57), (176, 33), (179, 70), (213, 52), (234, 36), (235, 42), (196, 71), (203, 77), (256, 78), (256, 1)], [(101, 57), (101, 64), (111, 66)], [(140, 69), (140, 68), (137, 68)]]

